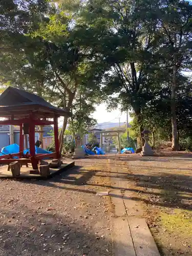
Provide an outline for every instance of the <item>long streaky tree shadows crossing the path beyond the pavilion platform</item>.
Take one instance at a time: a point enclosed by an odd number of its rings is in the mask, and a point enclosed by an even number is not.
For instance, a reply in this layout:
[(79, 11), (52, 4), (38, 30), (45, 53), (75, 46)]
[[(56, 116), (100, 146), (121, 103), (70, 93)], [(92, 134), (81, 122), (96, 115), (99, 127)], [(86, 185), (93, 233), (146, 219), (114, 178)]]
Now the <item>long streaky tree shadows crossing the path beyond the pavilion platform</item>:
[[(79, 178), (76, 178), (76, 175)], [(27, 181), (21, 180), (24, 183), (35, 183), (42, 186), (50, 186), (60, 189), (79, 191), (87, 194), (96, 194), (98, 187), (105, 189), (120, 189), (134, 192), (136, 195), (132, 198), (124, 197), (125, 199), (132, 199), (135, 201), (143, 201), (146, 204), (170, 207), (170, 208), (182, 208), (192, 210), (192, 179), (188, 175), (169, 174), (161, 172), (158, 175), (142, 175), (131, 174), (127, 171), (125, 173), (114, 173), (116, 179), (127, 180), (127, 184), (130, 181), (135, 182), (135, 187), (119, 187), (115, 185), (106, 184), (94, 184), (89, 183), (89, 180), (96, 177), (103, 177), (101, 170), (87, 170), (86, 167), (75, 166), (74, 168), (62, 173), (60, 176), (56, 176), (53, 179), (46, 181)], [(69, 176), (71, 175), (71, 176)], [(110, 172), (105, 172), (104, 177), (111, 177)], [(114, 176), (113, 176), (114, 179)], [(62, 185), (61, 185), (62, 184)], [(63, 186), (73, 185), (73, 186)], [(89, 186), (89, 189), (87, 186)], [(139, 196), (138, 196), (139, 195)], [(121, 197), (119, 195), (112, 194), (112, 197)]]

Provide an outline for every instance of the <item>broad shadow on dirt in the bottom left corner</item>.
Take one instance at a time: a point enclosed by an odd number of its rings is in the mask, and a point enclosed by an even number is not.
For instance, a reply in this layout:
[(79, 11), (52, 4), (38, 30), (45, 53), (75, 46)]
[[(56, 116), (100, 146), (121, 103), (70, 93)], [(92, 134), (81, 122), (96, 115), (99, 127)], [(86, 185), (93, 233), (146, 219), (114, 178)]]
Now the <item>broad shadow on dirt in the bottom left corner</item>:
[[(1, 210), (3, 212), (3, 209)], [(82, 221), (65, 218), (57, 212), (45, 213), (41, 209), (25, 209), (26, 223), (11, 224), (19, 217), (14, 210), (3, 212), (6, 222), (0, 224), (0, 255), (109, 255), (111, 241), (98, 238), (94, 230), (87, 229)], [(30, 225), (29, 225), (30, 220)], [(4, 242), (6, 241), (6, 242)], [(112, 254), (110, 254), (112, 255)]]

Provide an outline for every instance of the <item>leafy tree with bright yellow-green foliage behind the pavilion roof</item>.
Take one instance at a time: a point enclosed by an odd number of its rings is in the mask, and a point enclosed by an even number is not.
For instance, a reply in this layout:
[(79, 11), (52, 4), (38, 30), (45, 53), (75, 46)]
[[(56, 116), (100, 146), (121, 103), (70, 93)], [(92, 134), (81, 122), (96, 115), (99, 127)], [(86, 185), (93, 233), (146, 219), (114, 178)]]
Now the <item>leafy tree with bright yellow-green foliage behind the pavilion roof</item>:
[[(90, 87), (93, 83), (87, 83), (88, 64), (86, 55), (75, 42), (73, 13), (46, 0), (37, 3), (26, 1), (26, 5), (22, 1), (12, 3), (12, 9), (8, 10), (3, 3), (5, 21), (8, 15), (22, 22), (18, 28), (7, 26), (5, 22), (1, 31), (9, 42), (9, 47), (2, 47), (0, 54), (3, 62), (0, 70), (2, 82), (30, 90), (60, 108), (71, 110), (78, 87), (88, 88), (89, 92), (96, 89)], [(22, 13), (22, 17), (18, 16), (18, 12)], [(5, 31), (10, 35), (9, 40)], [(65, 117), (59, 135), (60, 151), (67, 121)]]

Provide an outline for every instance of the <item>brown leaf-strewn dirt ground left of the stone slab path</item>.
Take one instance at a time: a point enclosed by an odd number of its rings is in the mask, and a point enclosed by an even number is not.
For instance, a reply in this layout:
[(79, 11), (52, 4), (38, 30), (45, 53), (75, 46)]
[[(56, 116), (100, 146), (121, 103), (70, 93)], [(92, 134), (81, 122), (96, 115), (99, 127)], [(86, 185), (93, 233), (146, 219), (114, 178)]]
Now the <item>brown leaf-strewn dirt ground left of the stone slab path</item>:
[(0, 180), (0, 255), (112, 255), (109, 198), (96, 195), (109, 178), (95, 176), (104, 175), (99, 162), (47, 181)]

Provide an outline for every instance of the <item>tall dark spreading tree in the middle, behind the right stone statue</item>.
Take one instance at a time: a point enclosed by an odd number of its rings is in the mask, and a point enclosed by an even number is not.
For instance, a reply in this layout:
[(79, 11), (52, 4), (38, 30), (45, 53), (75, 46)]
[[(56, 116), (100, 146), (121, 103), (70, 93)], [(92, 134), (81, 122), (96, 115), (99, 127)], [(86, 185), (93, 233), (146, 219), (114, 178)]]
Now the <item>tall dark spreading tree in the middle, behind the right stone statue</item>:
[[(82, 7), (79, 31), (95, 81), (112, 108), (133, 109), (142, 129), (142, 108), (153, 97), (158, 44), (155, 10), (160, 1), (93, 0)], [(101, 74), (100, 76), (98, 74)]]

